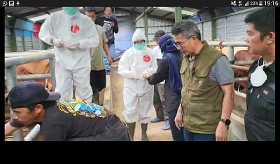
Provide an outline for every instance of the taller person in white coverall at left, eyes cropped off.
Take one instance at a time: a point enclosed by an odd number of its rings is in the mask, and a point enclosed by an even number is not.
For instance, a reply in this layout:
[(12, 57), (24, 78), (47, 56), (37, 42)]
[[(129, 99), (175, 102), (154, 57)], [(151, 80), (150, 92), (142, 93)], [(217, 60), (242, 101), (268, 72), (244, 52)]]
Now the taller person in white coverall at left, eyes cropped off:
[(45, 20), (38, 36), (55, 46), (55, 92), (62, 98), (73, 98), (74, 82), (76, 99), (92, 102), (90, 48), (99, 44), (94, 22), (78, 7), (64, 7)]

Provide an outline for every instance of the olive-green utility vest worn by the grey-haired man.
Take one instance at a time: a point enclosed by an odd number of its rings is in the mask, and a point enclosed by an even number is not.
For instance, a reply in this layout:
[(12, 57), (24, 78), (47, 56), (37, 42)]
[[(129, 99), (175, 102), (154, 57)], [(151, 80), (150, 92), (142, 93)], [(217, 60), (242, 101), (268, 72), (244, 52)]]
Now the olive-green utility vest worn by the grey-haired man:
[(212, 65), (224, 54), (211, 48), (206, 41), (200, 53), (195, 55), (193, 69), (189, 57), (181, 66), (181, 106), (183, 125), (190, 132), (214, 134), (221, 118), (223, 90), (217, 81), (209, 78)]

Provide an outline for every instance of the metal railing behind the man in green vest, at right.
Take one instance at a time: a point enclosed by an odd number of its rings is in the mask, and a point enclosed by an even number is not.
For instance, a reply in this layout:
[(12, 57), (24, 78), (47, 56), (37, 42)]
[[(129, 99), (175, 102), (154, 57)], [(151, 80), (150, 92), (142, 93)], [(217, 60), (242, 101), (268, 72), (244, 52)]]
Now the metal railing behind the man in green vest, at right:
[[(234, 60), (235, 58), (235, 47), (246, 47), (246, 42), (245, 41), (228, 41), (228, 42), (223, 42), (221, 45), (219, 45), (219, 41), (213, 41), (209, 42), (209, 46), (228, 46), (228, 59), (230, 61)], [(250, 61), (238, 61), (235, 62), (235, 65), (248, 65), (252, 64), (253, 60)], [(245, 78), (235, 78), (235, 81), (246, 81)], [(247, 79), (248, 81), (248, 79)], [(246, 98), (246, 94), (240, 93), (239, 91), (235, 90), (235, 95), (238, 95), (240, 97)]]

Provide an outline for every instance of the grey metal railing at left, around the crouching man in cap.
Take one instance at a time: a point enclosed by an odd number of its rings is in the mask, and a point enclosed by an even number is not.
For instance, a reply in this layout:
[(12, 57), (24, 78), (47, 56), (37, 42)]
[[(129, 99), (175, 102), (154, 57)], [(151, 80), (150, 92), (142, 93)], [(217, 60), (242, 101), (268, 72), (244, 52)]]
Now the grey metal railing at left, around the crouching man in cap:
[[(30, 74), (17, 76), (15, 66), (35, 62), (39, 60), (49, 59), (50, 74)], [(52, 50), (35, 50), (22, 53), (6, 53), (5, 54), (5, 69), (6, 69), (6, 86), (9, 92), (13, 87), (18, 84), (18, 80), (31, 80), (31, 79), (52, 79), (52, 90), (55, 90), (55, 54)], [(10, 118), (13, 116), (13, 111), (10, 109)], [(15, 141), (31, 141), (38, 135), (40, 125), (36, 125), (29, 134), (23, 138), (22, 129), (13, 132), (13, 139)]]

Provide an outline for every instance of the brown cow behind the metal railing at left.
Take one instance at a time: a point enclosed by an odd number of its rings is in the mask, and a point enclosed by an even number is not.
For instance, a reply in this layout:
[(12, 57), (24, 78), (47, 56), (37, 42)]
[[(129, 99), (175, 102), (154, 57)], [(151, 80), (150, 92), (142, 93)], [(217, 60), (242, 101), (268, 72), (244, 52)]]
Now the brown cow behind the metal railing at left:
[[(50, 73), (50, 63), (49, 60), (40, 60), (36, 62), (29, 62), (27, 64), (17, 65), (15, 67), (15, 71), (17, 75), (25, 75), (25, 74), (48, 74)], [(5, 72), (6, 76), (6, 72)], [(36, 79), (33, 81), (38, 81), (42, 83), (43, 86), (47, 86), (48, 90), (52, 89), (52, 82), (48, 79), (47, 83), (45, 79)], [(23, 81), (18, 81), (18, 83), (22, 83)], [(7, 87), (5, 83), (5, 93), (7, 92)]]

